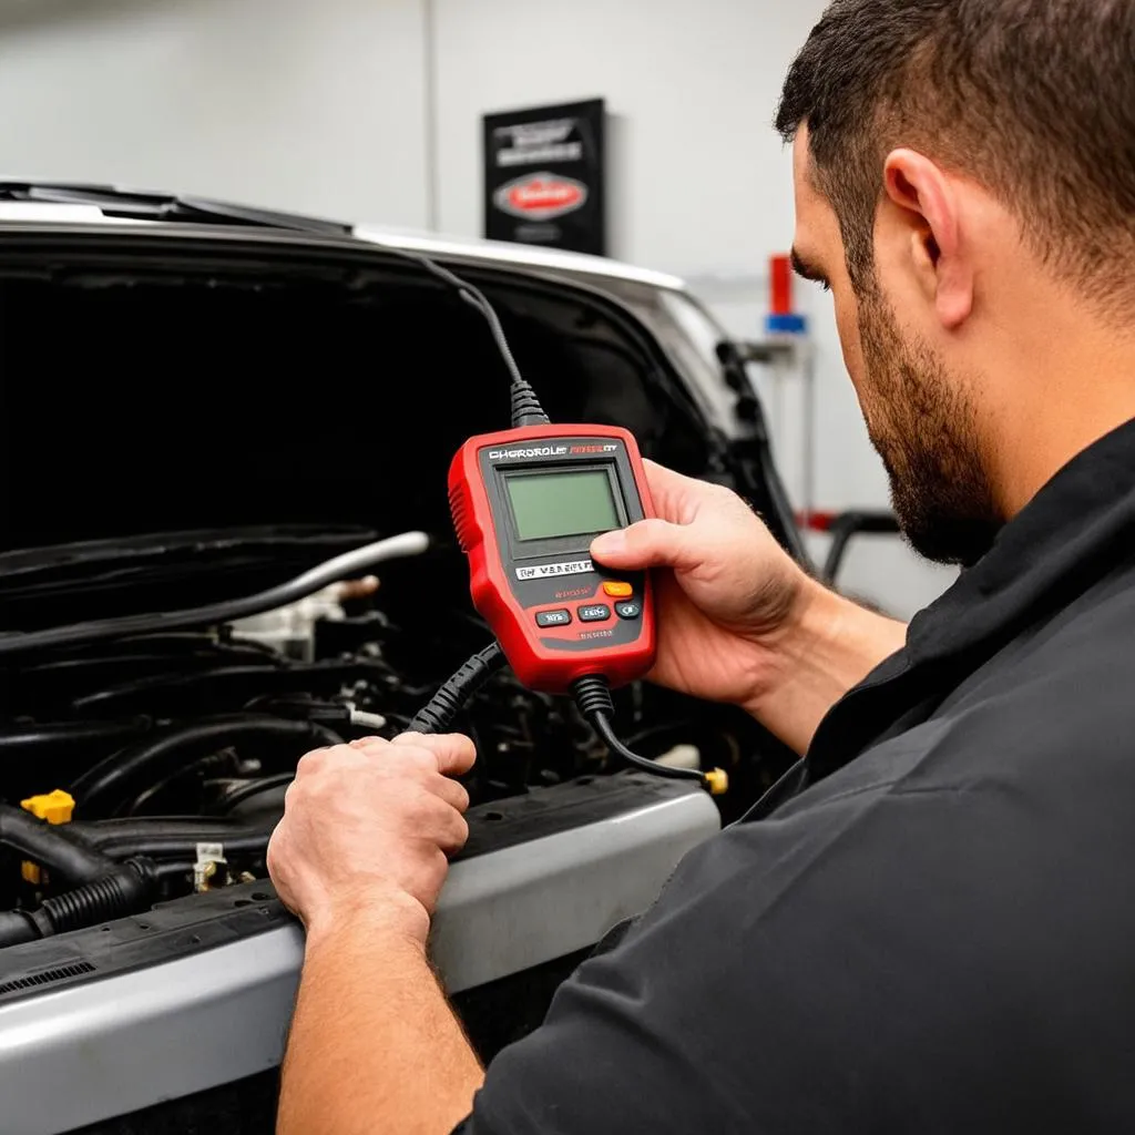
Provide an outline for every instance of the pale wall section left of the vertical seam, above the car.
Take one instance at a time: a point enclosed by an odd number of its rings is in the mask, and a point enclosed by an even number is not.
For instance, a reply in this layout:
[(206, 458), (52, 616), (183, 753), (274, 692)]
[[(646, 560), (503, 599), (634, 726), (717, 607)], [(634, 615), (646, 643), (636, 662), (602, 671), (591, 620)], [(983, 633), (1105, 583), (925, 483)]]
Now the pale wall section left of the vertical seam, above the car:
[(0, 169), (423, 227), (423, 74), (419, 0), (0, 0)]

